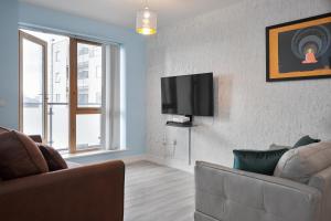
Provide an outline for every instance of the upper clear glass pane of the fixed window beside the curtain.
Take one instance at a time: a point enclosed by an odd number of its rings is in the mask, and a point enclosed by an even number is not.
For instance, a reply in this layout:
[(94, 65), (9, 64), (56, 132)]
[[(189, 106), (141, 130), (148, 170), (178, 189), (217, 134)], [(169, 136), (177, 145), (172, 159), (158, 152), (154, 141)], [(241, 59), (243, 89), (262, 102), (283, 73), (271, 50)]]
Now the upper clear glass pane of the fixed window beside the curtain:
[(77, 104), (78, 107), (102, 106), (102, 46), (77, 44)]

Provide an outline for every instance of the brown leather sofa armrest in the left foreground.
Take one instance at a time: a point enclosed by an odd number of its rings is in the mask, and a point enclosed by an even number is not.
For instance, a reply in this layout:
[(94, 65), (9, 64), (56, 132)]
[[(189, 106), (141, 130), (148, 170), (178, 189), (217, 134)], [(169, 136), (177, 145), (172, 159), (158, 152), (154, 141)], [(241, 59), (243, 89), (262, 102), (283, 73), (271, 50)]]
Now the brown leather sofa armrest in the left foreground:
[(1, 220), (122, 221), (122, 161), (0, 182)]

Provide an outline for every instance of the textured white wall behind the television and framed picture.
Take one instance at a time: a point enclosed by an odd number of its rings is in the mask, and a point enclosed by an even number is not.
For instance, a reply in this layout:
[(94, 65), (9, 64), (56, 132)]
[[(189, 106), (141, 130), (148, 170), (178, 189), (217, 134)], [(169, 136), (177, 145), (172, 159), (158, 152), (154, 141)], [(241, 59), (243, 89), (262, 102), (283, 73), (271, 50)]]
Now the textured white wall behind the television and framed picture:
[[(194, 160), (232, 166), (235, 148), (331, 139), (331, 80), (266, 83), (265, 28), (331, 11), (330, 0), (243, 0), (161, 29), (148, 43), (148, 154), (183, 168), (188, 131), (166, 127), (160, 77), (214, 72), (215, 117), (196, 117)], [(173, 154), (172, 145), (178, 141)]]

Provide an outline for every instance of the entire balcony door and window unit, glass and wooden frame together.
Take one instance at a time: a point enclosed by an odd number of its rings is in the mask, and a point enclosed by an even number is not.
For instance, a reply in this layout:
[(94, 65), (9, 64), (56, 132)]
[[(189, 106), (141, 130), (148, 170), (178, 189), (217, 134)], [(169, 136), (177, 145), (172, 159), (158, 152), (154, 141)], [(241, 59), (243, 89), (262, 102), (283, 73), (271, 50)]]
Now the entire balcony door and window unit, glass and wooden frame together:
[(41, 135), (63, 152), (103, 148), (104, 45), (25, 29), (19, 33), (20, 130)]

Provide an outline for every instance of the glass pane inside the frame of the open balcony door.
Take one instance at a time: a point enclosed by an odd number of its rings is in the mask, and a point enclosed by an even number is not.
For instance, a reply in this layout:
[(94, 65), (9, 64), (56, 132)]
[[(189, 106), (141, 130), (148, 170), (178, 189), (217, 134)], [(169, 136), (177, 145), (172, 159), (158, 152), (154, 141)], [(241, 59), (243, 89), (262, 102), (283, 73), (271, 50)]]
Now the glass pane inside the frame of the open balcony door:
[(43, 48), (26, 39), (23, 56), (23, 131), (43, 135)]

